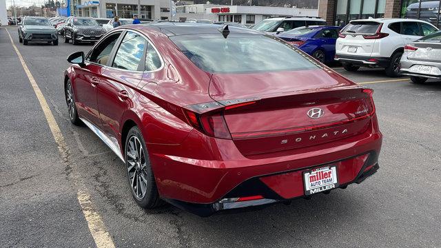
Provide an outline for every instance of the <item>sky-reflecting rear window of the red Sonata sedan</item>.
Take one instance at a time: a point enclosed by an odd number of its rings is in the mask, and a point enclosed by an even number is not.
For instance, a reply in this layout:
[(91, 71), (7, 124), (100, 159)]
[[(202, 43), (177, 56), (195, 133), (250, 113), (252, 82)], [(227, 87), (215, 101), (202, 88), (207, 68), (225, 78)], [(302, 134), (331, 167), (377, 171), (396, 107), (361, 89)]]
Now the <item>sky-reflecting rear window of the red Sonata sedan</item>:
[(198, 68), (212, 73), (252, 73), (317, 68), (295, 48), (263, 34), (170, 37)]

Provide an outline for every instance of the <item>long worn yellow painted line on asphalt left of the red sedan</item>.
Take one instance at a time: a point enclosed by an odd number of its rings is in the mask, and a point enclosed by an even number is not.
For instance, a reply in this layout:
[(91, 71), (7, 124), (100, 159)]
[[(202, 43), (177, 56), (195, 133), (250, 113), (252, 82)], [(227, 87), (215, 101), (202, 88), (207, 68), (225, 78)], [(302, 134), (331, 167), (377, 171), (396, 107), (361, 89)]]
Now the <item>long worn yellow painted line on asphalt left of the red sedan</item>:
[[(23, 66), (23, 70), (25, 70), (29, 82), (32, 85), (32, 88), (34, 89), (35, 94), (37, 95), (37, 99), (39, 100), (41, 108), (43, 109), (43, 113), (46, 118), (46, 121), (48, 121), (50, 131), (54, 136), (55, 143), (57, 143), (57, 147), (61, 154), (61, 158), (63, 158), (63, 160), (66, 160), (69, 156), (68, 145), (66, 145), (65, 143), (65, 139), (63, 137), (63, 134), (61, 134), (60, 127), (57, 124), (57, 121), (55, 121), (54, 115), (50, 111), (48, 102), (44, 98), (43, 93), (41, 93), (41, 90), (37, 85), (34, 76), (32, 76), (32, 74), (30, 73), (28, 65), (26, 65), (23, 56), (21, 56), (19, 50), (17, 49), (17, 46), (14, 44), (14, 41), (12, 40), (11, 34), (9, 33), (8, 29), (6, 29), (6, 32), (8, 32), (9, 39), (11, 40), (12, 43), (12, 47), (17, 53), (17, 56), (19, 56), (21, 66)], [(95, 210), (95, 207), (92, 204), (92, 201), (90, 200), (91, 197), (88, 190), (85, 189), (84, 186), (81, 187), (81, 182), (78, 178), (74, 178), (74, 184), (77, 187), (76, 198), (79, 201), (85, 220), (88, 222), (88, 227), (90, 233), (92, 234), (92, 237), (94, 238), (96, 247), (114, 248), (115, 247), (114, 242), (110, 237), (110, 234), (105, 229), (105, 225), (103, 223), (103, 220), (101, 219), (101, 216)]]

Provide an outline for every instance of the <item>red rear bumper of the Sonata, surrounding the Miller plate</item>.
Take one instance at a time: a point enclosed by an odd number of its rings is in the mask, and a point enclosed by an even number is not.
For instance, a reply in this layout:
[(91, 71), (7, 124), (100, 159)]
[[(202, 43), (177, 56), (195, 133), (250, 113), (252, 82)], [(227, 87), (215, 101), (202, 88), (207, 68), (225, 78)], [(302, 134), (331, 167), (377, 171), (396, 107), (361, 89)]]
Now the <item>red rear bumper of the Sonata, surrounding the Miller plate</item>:
[[(217, 211), (258, 207), (305, 197), (302, 173), (316, 167), (335, 165), (338, 187), (360, 183), (378, 169), (382, 134), (375, 130), (377, 127), (371, 127), (368, 132), (336, 143), (294, 149), (281, 152), (281, 156), (265, 158), (245, 157), (229, 140), (210, 138), (209, 147), (203, 147), (203, 142), (199, 142), (201, 147), (197, 147), (191, 141), (192, 136), (198, 135), (195, 130), (180, 145), (181, 152), (185, 154), (185, 146), (192, 144), (190, 149), (193, 151), (202, 154), (212, 149), (218, 158), (165, 155), (169, 148), (161, 145), (149, 145), (147, 149), (152, 151), (150, 159), (161, 198), (194, 214), (209, 216)], [(190, 141), (186, 144), (188, 139)], [(170, 151), (173, 150), (179, 149), (170, 148)], [(241, 202), (228, 201), (230, 198), (254, 196), (261, 197)]]

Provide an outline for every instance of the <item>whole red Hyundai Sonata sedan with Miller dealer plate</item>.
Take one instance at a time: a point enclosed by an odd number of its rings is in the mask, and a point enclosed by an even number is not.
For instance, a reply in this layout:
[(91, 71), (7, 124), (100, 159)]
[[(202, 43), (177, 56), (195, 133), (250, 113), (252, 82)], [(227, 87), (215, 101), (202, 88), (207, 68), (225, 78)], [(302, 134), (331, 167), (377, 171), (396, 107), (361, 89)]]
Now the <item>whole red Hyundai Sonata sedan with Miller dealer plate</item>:
[(70, 120), (127, 166), (136, 203), (200, 216), (289, 202), (378, 170), (370, 89), (261, 32), (128, 25), (72, 54)]

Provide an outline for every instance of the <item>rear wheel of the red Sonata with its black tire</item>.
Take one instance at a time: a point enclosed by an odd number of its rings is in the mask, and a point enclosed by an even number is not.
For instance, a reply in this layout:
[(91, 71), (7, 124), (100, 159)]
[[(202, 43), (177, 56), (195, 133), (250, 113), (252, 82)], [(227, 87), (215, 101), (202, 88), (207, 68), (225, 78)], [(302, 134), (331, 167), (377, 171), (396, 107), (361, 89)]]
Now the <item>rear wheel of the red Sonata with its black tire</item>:
[(164, 202), (159, 197), (154, 180), (145, 141), (137, 126), (129, 130), (125, 139), (125, 165), (127, 165), (127, 182), (136, 203), (144, 209), (153, 209), (163, 205)]

